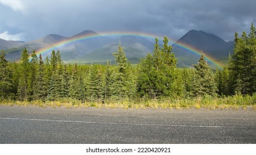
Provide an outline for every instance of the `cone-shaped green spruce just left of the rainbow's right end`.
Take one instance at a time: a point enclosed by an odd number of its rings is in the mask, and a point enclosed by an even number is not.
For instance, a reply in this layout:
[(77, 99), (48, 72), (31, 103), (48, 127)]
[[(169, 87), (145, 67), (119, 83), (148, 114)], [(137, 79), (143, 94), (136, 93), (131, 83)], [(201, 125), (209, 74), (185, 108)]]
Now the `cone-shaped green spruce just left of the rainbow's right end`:
[(217, 86), (214, 80), (212, 70), (209, 68), (207, 61), (204, 60), (204, 54), (197, 65), (194, 65), (194, 77), (192, 84), (193, 96), (211, 95), (216, 96)]

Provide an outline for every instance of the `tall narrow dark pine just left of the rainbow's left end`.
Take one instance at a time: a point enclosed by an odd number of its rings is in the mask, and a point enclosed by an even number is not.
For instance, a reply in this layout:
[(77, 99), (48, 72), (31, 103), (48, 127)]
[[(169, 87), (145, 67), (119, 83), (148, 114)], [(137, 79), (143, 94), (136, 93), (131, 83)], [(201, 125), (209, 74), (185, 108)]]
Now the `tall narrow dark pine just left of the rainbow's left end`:
[(18, 84), (18, 99), (19, 100), (28, 100), (29, 97), (29, 54), (27, 49), (25, 48), (22, 51), (21, 63), (20, 63), (20, 78)]

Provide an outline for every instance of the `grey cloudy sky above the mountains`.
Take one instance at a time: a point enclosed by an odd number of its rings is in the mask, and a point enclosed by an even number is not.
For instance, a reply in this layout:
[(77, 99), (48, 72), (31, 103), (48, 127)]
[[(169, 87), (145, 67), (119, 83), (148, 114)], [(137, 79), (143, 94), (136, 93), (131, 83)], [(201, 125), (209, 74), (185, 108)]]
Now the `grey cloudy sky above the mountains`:
[(256, 25), (255, 6), (255, 0), (0, 0), (0, 38), (29, 42), (94, 30), (177, 40), (195, 29), (229, 41)]

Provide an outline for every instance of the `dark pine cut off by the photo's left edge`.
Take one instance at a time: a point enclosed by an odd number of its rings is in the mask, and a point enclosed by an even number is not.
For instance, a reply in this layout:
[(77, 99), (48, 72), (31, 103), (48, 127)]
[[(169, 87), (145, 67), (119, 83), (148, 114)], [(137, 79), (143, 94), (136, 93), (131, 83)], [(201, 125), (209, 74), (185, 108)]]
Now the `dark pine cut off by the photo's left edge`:
[(4, 55), (2, 50), (0, 55), (0, 100), (11, 97), (13, 90), (12, 72)]

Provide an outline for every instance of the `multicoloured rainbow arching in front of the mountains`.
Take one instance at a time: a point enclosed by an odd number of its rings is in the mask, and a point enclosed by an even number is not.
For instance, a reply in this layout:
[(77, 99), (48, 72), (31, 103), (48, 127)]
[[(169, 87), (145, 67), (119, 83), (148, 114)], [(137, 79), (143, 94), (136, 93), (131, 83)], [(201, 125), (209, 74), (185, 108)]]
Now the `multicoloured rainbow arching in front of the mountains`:
[[(50, 53), (52, 52), (52, 50), (57, 50), (59, 48), (61, 48), (62, 46), (66, 46), (66, 45), (70, 45), (76, 42), (82, 42), (84, 40), (87, 39), (93, 39), (93, 38), (98, 38), (98, 37), (122, 37), (122, 36), (128, 36), (128, 35), (132, 35), (132, 36), (136, 36), (136, 37), (144, 37), (150, 40), (155, 40), (155, 38), (158, 38), (160, 40), (163, 40), (162, 36), (156, 36), (154, 34), (150, 34), (150, 33), (142, 33), (142, 32), (102, 32), (100, 34), (88, 34), (88, 35), (78, 35), (78, 37), (71, 37), (68, 39), (65, 39), (63, 41), (54, 43), (52, 45), (49, 46), (45, 46), (44, 48), (38, 49), (35, 51), (35, 53), (37, 55), (39, 54), (46, 54), (46, 53)], [(169, 39), (169, 43), (174, 44), (176, 42), (176, 40), (173, 39)], [(190, 45), (184, 44), (184, 43), (175, 43), (176, 46), (178, 46), (179, 48), (185, 49), (193, 54), (196, 54), (198, 56), (201, 56), (201, 50), (198, 50)], [(222, 68), (223, 64), (219, 63), (216, 59), (212, 58), (211, 56), (207, 55), (205, 56), (205, 59), (216, 65), (218, 68)]]

